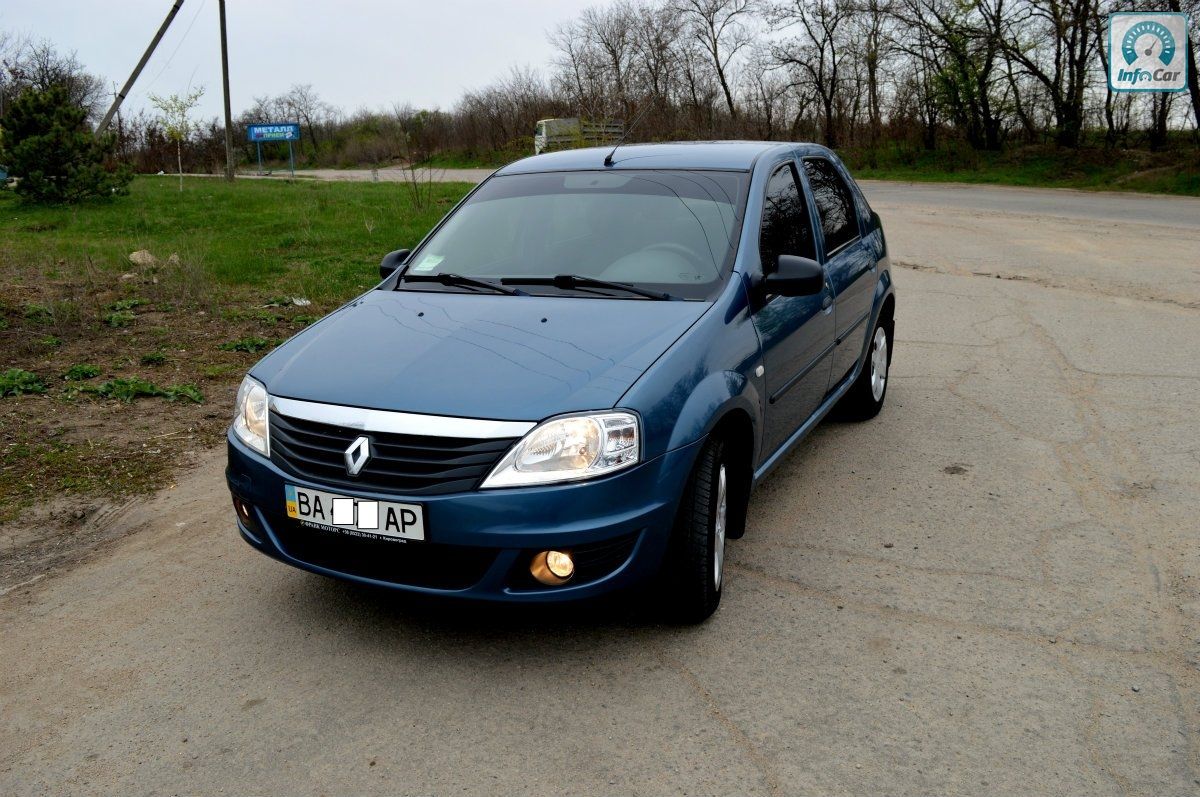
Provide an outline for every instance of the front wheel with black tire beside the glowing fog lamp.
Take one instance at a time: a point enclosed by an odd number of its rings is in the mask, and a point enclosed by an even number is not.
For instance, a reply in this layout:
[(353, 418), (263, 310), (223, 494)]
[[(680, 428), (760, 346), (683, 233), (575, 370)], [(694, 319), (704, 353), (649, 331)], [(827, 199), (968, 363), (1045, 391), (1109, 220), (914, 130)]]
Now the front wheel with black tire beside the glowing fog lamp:
[(725, 443), (709, 438), (679, 499), (664, 562), (662, 587), (670, 621), (702, 623), (721, 603), (728, 508)]

